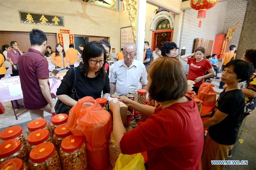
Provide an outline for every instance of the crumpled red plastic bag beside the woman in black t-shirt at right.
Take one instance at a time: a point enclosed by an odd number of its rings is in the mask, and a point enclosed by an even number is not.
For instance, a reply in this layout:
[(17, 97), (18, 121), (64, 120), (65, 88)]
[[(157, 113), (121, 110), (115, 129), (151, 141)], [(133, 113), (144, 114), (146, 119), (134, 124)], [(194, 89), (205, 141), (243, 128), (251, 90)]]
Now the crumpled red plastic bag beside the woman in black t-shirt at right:
[(203, 101), (205, 105), (215, 105), (216, 92), (212, 88), (214, 85), (203, 83), (199, 87), (197, 98)]

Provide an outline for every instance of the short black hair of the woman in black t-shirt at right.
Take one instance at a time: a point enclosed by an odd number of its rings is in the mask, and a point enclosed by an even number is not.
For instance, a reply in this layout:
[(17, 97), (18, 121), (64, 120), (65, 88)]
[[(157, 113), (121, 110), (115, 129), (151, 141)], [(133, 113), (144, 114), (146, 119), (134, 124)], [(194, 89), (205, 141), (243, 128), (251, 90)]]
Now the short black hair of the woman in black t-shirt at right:
[(237, 79), (241, 79), (239, 83), (250, 79), (254, 72), (253, 65), (245, 60), (232, 60), (226, 64), (225, 68), (230, 66), (234, 67)]

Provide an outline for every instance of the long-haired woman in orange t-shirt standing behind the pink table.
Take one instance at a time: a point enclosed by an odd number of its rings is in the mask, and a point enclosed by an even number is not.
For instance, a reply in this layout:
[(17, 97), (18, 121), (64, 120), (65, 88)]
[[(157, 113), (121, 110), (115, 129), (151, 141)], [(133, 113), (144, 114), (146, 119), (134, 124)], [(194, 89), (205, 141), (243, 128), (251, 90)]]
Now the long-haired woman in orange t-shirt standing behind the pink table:
[(65, 53), (63, 45), (58, 43), (56, 44), (56, 50), (52, 53), (51, 63), (56, 66), (56, 68), (67, 68), (69, 61), (68, 54)]

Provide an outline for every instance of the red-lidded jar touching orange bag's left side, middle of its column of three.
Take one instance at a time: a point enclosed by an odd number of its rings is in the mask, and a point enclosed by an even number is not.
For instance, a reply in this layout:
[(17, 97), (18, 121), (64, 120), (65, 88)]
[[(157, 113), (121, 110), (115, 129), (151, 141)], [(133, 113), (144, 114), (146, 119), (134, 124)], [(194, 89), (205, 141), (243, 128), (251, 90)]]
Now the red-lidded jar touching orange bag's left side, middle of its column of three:
[(62, 140), (69, 135), (72, 135), (72, 133), (68, 129), (67, 123), (56, 127), (56, 129), (54, 130), (53, 141), (57, 150), (60, 150)]

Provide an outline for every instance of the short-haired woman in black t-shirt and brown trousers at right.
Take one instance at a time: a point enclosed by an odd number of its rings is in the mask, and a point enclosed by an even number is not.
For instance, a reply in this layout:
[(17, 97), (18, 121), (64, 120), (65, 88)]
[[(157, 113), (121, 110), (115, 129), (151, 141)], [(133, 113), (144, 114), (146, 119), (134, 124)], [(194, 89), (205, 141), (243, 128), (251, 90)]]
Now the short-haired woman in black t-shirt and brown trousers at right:
[(226, 64), (221, 81), (227, 88), (220, 93), (212, 113), (201, 115), (210, 119), (203, 122), (209, 127), (204, 140), (202, 169), (223, 169), (225, 165), (212, 165), (211, 160), (225, 160), (232, 150), (238, 129), (243, 121), (245, 98), (239, 82), (253, 75), (253, 65), (244, 60), (233, 60)]

